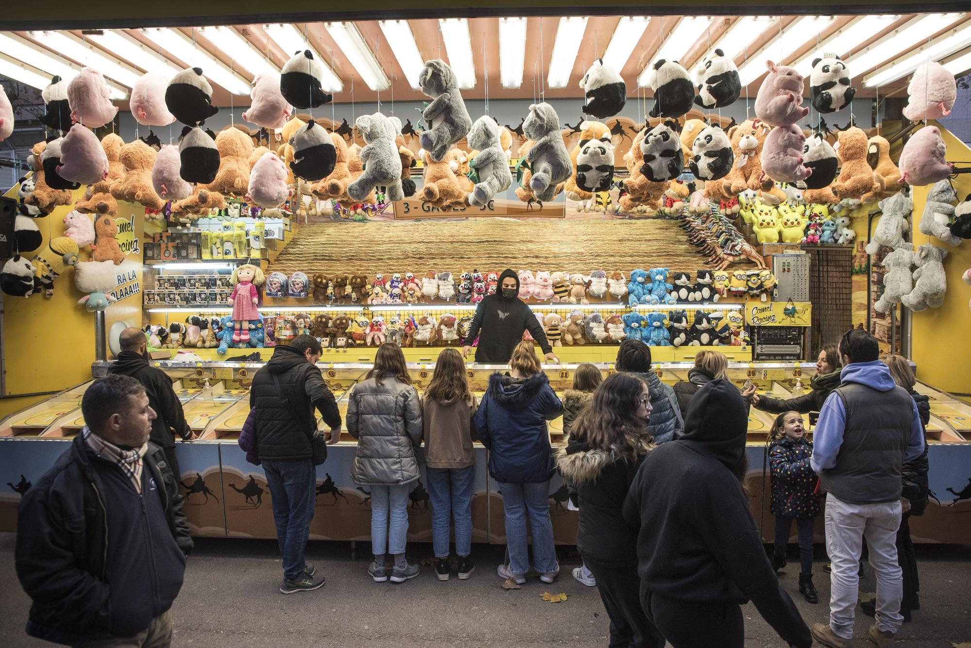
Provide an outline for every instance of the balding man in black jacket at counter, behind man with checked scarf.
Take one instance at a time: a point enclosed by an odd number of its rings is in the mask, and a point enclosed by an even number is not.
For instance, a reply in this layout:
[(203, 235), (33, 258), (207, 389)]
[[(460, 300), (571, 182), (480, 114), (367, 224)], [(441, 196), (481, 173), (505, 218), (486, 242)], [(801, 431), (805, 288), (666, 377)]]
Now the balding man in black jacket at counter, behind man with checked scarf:
[(182, 477), (179, 462), (176, 461), (176, 435), (186, 441), (192, 440), (192, 430), (185, 423), (182, 403), (172, 389), (172, 380), (165, 372), (149, 364), (146, 349), (148, 342), (141, 329), (128, 328), (121, 332), (119, 338), (121, 352), (117, 360), (112, 363), (109, 373), (130, 375), (145, 387), (149, 397), (149, 406), (155, 412), (155, 420), (151, 423), (149, 440), (165, 451), (169, 466), (176, 475)]

